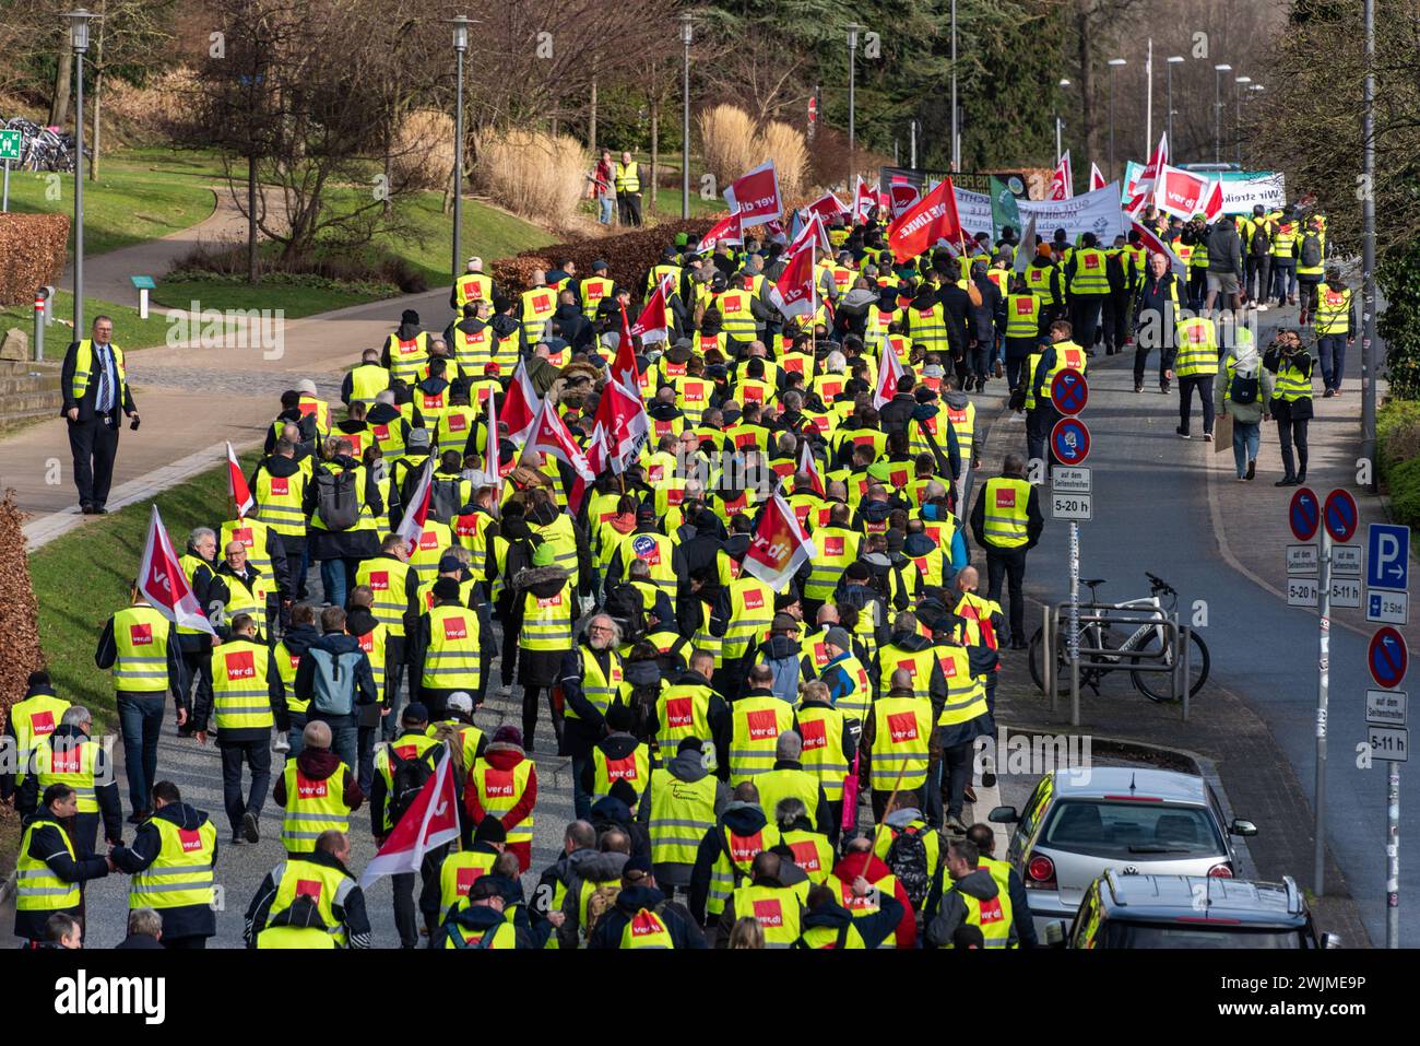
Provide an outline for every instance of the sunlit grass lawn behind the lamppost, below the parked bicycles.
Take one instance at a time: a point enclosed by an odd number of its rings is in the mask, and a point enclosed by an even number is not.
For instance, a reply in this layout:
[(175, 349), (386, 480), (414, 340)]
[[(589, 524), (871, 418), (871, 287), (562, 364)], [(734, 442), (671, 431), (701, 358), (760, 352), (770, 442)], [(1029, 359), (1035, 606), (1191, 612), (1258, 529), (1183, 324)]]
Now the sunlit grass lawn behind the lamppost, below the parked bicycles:
[[(153, 240), (197, 225), (212, 215), (216, 198), (210, 159), (168, 153), (105, 158), (97, 182), (84, 182), (84, 254)], [(53, 199), (51, 199), (53, 198)], [(10, 209), (23, 213), (74, 215), (74, 175), (16, 171)], [(74, 233), (70, 232), (70, 249)]]

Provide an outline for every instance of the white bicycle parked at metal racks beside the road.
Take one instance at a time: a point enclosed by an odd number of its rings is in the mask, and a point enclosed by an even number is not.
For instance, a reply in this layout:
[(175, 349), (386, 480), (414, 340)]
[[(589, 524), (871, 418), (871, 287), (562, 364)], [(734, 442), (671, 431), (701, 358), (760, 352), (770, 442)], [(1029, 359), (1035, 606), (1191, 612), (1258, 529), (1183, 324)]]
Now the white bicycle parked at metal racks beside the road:
[[(1150, 701), (1169, 701), (1170, 686), (1169, 679), (1164, 672), (1140, 672), (1137, 667), (1140, 664), (1162, 664), (1173, 665), (1174, 651), (1170, 649), (1173, 640), (1169, 635), (1169, 630), (1163, 624), (1154, 624), (1150, 621), (1110, 621), (1110, 610), (1133, 610), (1133, 611), (1160, 611), (1162, 614), (1172, 613), (1179, 604), (1179, 593), (1163, 578), (1154, 574), (1145, 573), (1149, 578), (1149, 595), (1137, 600), (1125, 600), (1123, 603), (1105, 604), (1103, 610), (1092, 611), (1098, 617), (1105, 618), (1103, 621), (1086, 621), (1079, 627), (1078, 638), (1081, 647), (1089, 647), (1093, 649), (1108, 649), (1110, 654), (1093, 655), (1096, 661), (1115, 662), (1119, 665), (1119, 671), (1129, 668), (1129, 681), (1133, 684), (1135, 689), (1143, 694)], [(1089, 603), (1099, 603), (1098, 588), (1105, 584), (1105, 578), (1089, 578), (1081, 580), (1081, 584), (1089, 588)], [(1062, 622), (1065, 621), (1062, 615)], [(1135, 625), (1135, 631), (1130, 632), (1123, 641), (1116, 642), (1116, 625)], [(1058, 649), (1055, 651), (1055, 679), (1056, 691), (1059, 694), (1069, 694), (1069, 652), (1065, 635), (1061, 634), (1058, 640)], [(1189, 696), (1197, 696), (1198, 691), (1203, 689), (1203, 684), (1208, 681), (1208, 668), (1211, 661), (1208, 658), (1208, 647), (1196, 631), (1189, 632), (1190, 641), (1193, 644), (1190, 659), (1189, 659)], [(1030, 644), (1030, 661), (1031, 661), (1031, 678), (1035, 681), (1035, 686), (1045, 692), (1045, 630), (1037, 628), (1035, 635), (1031, 637)], [(1159, 658), (1157, 652), (1163, 651), (1163, 657)], [(1129, 657), (1135, 654), (1135, 657)], [(1140, 657), (1149, 654), (1150, 657)], [(1099, 681), (1103, 679), (1115, 668), (1081, 668), (1079, 682), (1082, 686), (1089, 686), (1095, 694), (1099, 694)]]

